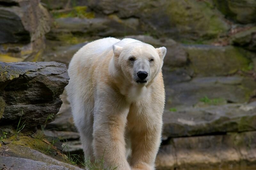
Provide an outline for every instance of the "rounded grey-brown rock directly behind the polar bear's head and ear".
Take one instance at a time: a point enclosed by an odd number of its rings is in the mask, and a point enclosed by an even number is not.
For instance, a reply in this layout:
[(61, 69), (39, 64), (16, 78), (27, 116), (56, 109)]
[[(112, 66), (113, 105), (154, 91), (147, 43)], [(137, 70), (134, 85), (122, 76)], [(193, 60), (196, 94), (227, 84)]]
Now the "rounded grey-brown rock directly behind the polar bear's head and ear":
[[(157, 47), (166, 47), (167, 53), (164, 57), (165, 66), (183, 66), (187, 63), (188, 54), (183, 49), (182, 45), (176, 41), (168, 38), (155, 39), (148, 35), (126, 36), (127, 38), (133, 38)], [(125, 38), (126, 38), (125, 37)]]

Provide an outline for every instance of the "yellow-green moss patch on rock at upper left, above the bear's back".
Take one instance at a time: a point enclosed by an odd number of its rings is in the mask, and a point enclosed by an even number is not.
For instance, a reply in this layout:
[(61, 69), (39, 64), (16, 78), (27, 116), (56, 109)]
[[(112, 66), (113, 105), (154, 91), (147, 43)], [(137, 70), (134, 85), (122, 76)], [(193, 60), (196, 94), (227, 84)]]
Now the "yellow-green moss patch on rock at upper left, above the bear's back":
[(95, 18), (94, 12), (86, 12), (87, 6), (76, 6), (69, 12), (52, 12), (54, 18)]

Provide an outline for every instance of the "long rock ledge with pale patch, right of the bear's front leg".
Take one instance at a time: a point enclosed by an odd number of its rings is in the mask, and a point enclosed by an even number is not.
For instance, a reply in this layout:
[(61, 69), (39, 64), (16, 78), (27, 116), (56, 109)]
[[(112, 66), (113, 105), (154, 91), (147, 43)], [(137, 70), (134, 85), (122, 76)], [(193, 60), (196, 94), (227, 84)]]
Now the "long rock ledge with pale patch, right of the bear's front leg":
[(201, 136), (256, 130), (256, 101), (250, 104), (205, 105), (164, 112), (165, 137)]

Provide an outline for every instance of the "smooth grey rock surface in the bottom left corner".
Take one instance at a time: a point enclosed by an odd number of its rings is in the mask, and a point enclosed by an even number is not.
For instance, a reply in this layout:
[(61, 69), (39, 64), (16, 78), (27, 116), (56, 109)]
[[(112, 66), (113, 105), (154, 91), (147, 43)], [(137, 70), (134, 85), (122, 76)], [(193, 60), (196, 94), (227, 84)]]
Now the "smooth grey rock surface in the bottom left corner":
[(68, 170), (67, 167), (61, 167), (56, 165), (47, 164), (44, 162), (34, 161), (31, 159), (25, 158), (15, 158), (15, 157), (5, 157), (0, 156), (0, 161), (5, 165), (5, 168), (10, 169), (20, 169), (20, 170), (28, 170), (28, 169), (54, 169), (54, 170)]

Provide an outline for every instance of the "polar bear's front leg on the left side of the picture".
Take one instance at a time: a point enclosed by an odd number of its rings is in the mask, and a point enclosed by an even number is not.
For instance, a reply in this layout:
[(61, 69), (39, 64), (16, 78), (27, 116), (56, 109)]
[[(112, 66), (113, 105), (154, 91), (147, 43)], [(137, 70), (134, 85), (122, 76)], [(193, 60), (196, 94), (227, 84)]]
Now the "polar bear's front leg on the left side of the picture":
[(124, 130), (129, 105), (111, 90), (97, 94), (94, 108), (93, 150), (105, 167), (131, 170), (125, 157)]

